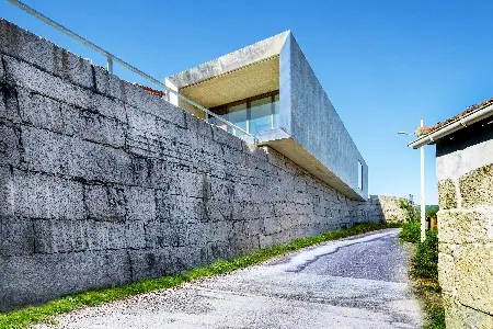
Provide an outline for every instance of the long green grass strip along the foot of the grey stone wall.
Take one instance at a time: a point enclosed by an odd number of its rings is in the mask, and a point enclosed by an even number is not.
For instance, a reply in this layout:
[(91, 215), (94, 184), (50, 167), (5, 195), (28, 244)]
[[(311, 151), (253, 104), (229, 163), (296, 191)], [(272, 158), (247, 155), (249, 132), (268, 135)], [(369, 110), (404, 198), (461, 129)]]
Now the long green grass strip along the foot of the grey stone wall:
[(286, 254), (288, 252), (321, 242), (390, 227), (397, 227), (397, 225), (357, 224), (352, 228), (328, 231), (314, 237), (297, 239), (289, 243), (276, 245), (271, 248), (260, 249), (249, 254), (237, 257), (230, 260), (219, 260), (209, 265), (192, 269), (181, 274), (145, 280), (118, 287), (108, 287), (68, 295), (39, 306), (31, 306), (11, 313), (0, 314), (0, 328), (26, 328), (27, 326), (33, 324), (51, 321), (53, 316), (74, 310), (81, 307), (101, 305), (103, 303), (122, 299), (147, 292), (175, 287), (185, 282), (243, 269), (261, 263), (270, 258)]

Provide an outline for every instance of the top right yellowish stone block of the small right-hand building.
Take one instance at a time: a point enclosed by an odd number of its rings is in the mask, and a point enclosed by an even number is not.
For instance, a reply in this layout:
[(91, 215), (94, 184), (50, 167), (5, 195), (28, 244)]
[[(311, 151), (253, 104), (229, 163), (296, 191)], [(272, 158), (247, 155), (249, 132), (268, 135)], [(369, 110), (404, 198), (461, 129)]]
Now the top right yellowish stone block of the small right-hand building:
[(462, 175), (459, 179), (462, 207), (493, 205), (493, 163)]

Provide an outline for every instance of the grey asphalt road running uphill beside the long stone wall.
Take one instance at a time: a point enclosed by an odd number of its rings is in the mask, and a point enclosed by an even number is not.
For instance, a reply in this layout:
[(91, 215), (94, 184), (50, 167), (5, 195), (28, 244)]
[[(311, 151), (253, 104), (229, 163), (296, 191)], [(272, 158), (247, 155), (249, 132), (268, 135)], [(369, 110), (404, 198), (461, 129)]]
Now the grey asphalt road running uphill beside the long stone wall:
[(329, 242), (39, 328), (419, 328), (397, 229)]

